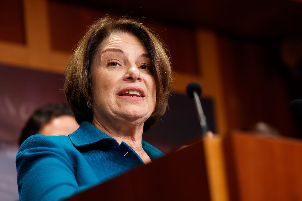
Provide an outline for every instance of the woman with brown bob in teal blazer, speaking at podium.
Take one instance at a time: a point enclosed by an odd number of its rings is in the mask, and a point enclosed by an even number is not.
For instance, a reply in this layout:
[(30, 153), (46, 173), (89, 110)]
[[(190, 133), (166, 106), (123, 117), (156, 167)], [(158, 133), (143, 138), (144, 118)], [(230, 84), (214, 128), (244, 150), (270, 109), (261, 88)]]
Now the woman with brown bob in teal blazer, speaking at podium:
[(102, 18), (66, 67), (64, 92), (80, 124), (35, 135), (17, 158), (20, 200), (59, 200), (163, 156), (142, 141), (165, 112), (172, 73), (163, 43), (126, 18)]

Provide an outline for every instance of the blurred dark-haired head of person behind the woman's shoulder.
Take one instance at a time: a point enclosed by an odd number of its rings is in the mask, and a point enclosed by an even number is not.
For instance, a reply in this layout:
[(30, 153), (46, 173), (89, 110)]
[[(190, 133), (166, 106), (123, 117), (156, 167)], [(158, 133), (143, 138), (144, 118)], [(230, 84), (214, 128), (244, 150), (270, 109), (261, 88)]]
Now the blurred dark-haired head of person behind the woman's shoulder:
[(30, 116), (22, 129), (19, 145), (21, 146), (24, 140), (35, 134), (68, 136), (78, 128), (79, 124), (68, 105), (48, 104), (37, 108)]

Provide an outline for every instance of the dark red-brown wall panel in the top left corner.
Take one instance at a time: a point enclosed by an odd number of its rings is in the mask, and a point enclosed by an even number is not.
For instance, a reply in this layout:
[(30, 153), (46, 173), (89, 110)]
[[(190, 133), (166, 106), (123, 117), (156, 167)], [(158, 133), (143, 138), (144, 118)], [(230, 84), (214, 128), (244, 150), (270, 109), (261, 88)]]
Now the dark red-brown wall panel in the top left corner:
[(25, 43), (22, 0), (0, 1), (0, 40)]

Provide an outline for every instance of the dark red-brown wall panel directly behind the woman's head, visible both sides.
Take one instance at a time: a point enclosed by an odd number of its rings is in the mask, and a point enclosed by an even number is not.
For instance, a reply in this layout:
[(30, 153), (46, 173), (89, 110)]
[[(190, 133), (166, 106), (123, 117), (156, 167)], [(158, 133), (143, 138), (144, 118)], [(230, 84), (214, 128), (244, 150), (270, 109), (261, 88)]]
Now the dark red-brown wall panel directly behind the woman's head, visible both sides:
[[(97, 18), (104, 16), (104, 12), (49, 1), (51, 45), (53, 49), (70, 52), (81, 39), (83, 33)], [(116, 16), (116, 14), (115, 14)], [(152, 27), (165, 41), (170, 51), (171, 62), (175, 72), (198, 75), (199, 65), (194, 28), (179, 27), (160, 22), (141, 19)]]

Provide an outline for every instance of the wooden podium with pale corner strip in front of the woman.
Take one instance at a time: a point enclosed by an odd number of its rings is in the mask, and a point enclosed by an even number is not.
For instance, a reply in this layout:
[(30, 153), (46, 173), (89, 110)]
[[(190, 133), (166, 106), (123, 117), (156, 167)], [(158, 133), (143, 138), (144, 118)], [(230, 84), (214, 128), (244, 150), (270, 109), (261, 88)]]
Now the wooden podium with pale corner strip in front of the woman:
[(302, 141), (235, 131), (204, 138), (66, 199), (302, 200)]

